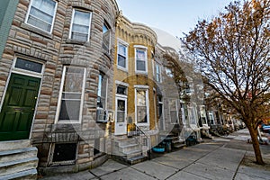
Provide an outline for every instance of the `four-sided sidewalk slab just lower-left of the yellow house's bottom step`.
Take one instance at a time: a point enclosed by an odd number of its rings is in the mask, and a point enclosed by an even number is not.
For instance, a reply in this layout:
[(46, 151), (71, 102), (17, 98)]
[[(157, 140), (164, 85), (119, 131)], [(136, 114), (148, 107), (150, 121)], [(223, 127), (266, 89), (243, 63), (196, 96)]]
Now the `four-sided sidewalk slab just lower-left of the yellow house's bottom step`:
[(118, 163), (116, 161), (113, 161), (112, 159), (109, 159), (102, 166), (98, 166), (94, 169), (91, 169), (90, 172), (93, 173), (94, 175), (101, 176), (121, 170), (124, 167), (127, 166), (122, 165), (121, 163)]

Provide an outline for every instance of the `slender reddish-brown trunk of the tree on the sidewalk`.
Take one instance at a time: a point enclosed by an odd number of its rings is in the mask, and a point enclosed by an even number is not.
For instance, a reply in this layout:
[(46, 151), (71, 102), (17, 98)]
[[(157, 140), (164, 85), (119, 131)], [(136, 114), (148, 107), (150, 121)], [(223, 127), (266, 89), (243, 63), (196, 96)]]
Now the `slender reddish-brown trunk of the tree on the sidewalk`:
[(256, 157), (256, 162), (259, 165), (264, 165), (261, 149), (260, 149), (260, 144), (257, 139), (257, 130), (254, 130), (253, 127), (250, 127), (250, 125), (247, 126), (247, 129), (249, 130), (251, 140), (252, 140), (252, 146), (254, 149), (255, 157)]

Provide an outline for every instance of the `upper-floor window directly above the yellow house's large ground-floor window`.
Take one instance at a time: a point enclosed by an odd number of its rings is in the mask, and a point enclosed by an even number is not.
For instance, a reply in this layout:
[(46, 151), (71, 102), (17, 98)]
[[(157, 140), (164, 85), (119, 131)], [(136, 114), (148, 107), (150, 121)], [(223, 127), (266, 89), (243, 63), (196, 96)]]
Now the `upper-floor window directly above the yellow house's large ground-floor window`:
[(136, 72), (147, 73), (148, 72), (147, 50), (136, 49), (135, 58), (136, 58)]

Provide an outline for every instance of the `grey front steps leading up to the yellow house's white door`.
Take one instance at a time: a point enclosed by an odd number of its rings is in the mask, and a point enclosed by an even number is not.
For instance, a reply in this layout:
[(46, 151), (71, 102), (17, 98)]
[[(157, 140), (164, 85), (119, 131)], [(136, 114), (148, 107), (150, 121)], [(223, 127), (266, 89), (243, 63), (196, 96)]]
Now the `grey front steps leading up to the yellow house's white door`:
[(113, 140), (114, 159), (129, 165), (135, 165), (148, 159), (143, 156), (142, 146), (134, 138), (123, 137)]

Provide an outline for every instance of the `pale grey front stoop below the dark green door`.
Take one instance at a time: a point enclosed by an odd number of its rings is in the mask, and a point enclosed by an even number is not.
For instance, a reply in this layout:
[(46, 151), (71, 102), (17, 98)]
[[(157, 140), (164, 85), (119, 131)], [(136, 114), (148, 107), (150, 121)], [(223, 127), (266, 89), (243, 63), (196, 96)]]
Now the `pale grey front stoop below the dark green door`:
[(0, 179), (37, 179), (38, 148), (30, 140), (0, 142)]

